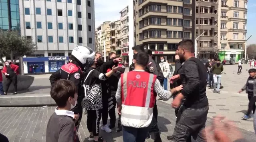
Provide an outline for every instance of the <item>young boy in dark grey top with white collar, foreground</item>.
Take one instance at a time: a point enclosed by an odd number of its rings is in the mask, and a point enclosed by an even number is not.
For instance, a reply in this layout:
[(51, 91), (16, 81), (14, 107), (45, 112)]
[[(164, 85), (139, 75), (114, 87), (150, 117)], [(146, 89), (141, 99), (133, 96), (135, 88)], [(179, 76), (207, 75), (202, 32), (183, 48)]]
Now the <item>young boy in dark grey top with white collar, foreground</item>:
[(50, 96), (58, 107), (48, 121), (46, 142), (76, 142), (75, 117), (70, 110), (77, 105), (77, 87), (72, 81), (60, 79), (52, 85)]

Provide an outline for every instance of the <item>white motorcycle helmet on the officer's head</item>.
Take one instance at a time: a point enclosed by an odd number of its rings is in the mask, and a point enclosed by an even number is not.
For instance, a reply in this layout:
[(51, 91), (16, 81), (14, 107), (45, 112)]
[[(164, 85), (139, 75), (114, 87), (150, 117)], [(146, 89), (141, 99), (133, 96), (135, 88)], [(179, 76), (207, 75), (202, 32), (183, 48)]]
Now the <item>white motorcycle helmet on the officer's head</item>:
[(77, 58), (82, 64), (85, 64), (87, 58), (95, 57), (95, 52), (90, 47), (77, 45), (71, 55)]

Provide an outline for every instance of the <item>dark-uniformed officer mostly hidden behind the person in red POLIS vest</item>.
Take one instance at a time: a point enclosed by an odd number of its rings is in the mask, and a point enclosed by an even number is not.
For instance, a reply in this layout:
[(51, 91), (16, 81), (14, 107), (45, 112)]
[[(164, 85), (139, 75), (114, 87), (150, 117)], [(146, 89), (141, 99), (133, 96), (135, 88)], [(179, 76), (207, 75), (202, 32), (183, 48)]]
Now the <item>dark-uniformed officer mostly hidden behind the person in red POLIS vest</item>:
[[(137, 54), (139, 52), (145, 52), (143, 45), (136, 45), (136, 46), (132, 47), (132, 49), (133, 49), (134, 54)], [(151, 50), (146, 49), (146, 52), (148, 54), (150, 51)], [(164, 81), (164, 76), (163, 76), (161, 68), (159, 67), (159, 69), (157, 69), (157, 65), (158, 64), (150, 57), (147, 67), (145, 68), (145, 71), (156, 75), (157, 79), (159, 80), (160, 84), (162, 85), (163, 81)], [(154, 135), (155, 135), (154, 142), (162, 142), (161, 137), (160, 137), (159, 128), (157, 126), (157, 116), (158, 116), (158, 110), (157, 110), (157, 105), (156, 105), (156, 101), (155, 101), (155, 106), (153, 108), (153, 118), (152, 118), (152, 122), (151, 122), (151, 126), (150, 126), (151, 128), (150, 128), (149, 132), (154, 132)]]

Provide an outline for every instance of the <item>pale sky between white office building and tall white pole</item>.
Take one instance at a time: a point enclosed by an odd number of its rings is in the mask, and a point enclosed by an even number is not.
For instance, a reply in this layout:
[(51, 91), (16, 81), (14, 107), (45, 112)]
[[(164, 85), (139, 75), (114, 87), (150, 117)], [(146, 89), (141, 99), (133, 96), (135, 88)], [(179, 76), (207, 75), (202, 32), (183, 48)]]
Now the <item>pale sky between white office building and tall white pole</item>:
[(95, 0), (95, 28), (104, 21), (120, 19), (119, 12), (128, 6), (128, 0)]

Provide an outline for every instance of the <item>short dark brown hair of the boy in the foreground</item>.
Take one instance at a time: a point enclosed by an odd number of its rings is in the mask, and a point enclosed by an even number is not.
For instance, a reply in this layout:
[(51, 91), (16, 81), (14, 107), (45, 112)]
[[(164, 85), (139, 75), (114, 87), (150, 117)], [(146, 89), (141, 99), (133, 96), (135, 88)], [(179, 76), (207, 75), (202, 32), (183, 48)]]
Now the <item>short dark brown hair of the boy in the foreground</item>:
[(66, 79), (56, 81), (50, 89), (50, 97), (60, 108), (65, 107), (69, 97), (74, 98), (75, 93), (77, 93), (77, 87), (72, 81)]

